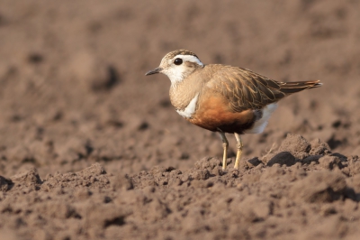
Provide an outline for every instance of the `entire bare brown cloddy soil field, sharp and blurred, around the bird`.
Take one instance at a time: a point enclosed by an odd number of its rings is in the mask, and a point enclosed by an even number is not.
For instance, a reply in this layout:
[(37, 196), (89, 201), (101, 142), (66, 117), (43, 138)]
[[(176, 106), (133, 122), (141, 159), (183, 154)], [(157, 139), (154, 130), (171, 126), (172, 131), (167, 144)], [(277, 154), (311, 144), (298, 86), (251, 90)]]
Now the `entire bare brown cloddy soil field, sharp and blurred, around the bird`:
[[(360, 1), (0, 1), (0, 239), (359, 239)], [(176, 49), (324, 86), (240, 169), (187, 123)]]

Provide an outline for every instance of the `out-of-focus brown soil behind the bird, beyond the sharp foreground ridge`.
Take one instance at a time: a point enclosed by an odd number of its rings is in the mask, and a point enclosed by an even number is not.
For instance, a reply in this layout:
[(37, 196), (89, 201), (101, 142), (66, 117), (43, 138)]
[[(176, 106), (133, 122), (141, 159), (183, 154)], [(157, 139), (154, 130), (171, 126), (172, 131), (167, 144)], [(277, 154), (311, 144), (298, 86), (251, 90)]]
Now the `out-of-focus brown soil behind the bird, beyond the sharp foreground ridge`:
[[(0, 174), (101, 162), (111, 172), (193, 167), (219, 136), (188, 124), (165, 76), (176, 49), (276, 80), (321, 79), (281, 101), (244, 159), (286, 133), (360, 153), (359, 1), (14, 1), (0, 3)], [(230, 156), (235, 142), (231, 138)]]

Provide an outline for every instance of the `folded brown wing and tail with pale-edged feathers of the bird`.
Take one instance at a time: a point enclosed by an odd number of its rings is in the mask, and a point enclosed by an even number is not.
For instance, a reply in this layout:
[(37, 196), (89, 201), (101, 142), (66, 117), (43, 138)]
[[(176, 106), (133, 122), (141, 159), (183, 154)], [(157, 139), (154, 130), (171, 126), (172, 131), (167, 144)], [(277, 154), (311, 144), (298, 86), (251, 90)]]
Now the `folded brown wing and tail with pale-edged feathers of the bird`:
[(261, 109), (283, 97), (308, 88), (321, 86), (317, 81), (278, 82), (249, 69), (217, 65), (210, 84), (229, 100), (234, 112)]

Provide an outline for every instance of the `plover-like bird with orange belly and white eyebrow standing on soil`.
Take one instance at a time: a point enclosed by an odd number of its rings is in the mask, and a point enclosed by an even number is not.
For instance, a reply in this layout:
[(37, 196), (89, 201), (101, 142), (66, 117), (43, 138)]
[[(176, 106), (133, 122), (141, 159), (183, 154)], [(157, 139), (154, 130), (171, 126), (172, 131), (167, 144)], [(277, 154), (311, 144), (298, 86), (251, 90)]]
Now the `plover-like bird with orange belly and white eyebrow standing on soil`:
[(252, 70), (222, 64), (203, 64), (193, 51), (168, 52), (156, 69), (171, 81), (169, 96), (175, 111), (193, 125), (218, 132), (222, 141), (222, 170), (227, 168), (229, 142), (234, 134), (238, 169), (243, 150), (242, 134), (260, 134), (277, 102), (293, 93), (322, 86), (320, 80), (282, 82)]

